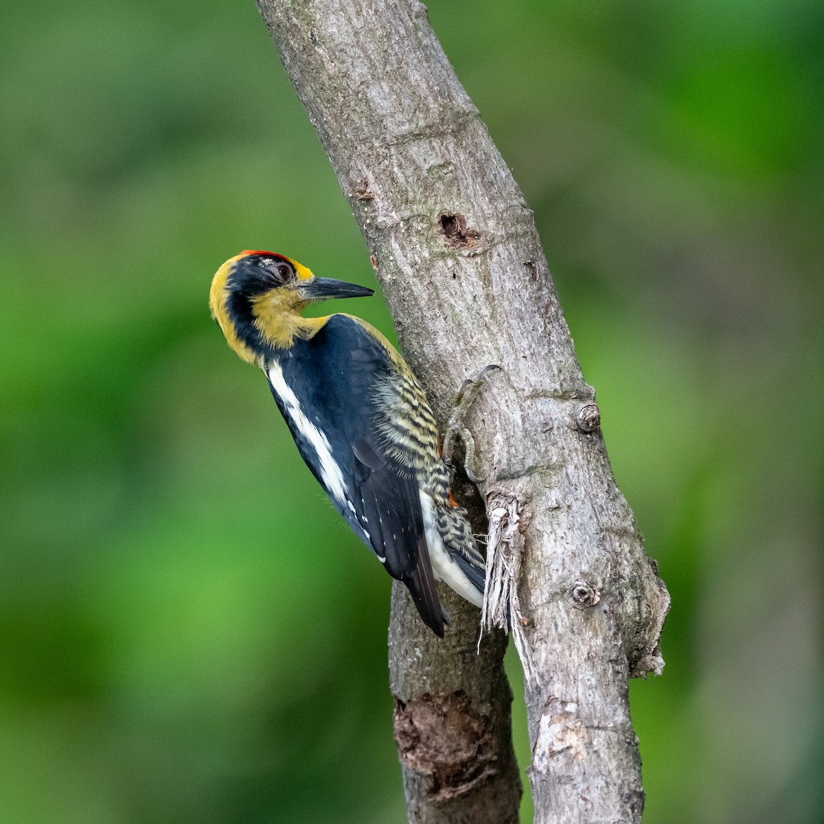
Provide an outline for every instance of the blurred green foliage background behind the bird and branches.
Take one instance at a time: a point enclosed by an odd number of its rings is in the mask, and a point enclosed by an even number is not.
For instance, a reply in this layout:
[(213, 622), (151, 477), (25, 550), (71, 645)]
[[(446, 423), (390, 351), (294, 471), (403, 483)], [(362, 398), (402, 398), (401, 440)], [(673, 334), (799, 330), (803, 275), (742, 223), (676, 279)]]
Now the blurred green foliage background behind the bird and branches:
[[(672, 593), (645, 820), (822, 821), (824, 6), (429, 12)], [(206, 307), (242, 248), (372, 283), (265, 26), (0, 16), (0, 822), (401, 822), (389, 582)]]

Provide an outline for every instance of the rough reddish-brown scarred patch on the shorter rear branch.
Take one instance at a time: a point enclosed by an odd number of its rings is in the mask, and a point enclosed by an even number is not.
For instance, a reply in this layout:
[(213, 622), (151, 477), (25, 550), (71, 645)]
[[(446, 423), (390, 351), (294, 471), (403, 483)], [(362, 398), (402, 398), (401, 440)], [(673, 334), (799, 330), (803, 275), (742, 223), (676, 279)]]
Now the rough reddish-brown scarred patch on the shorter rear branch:
[(464, 795), (497, 771), (492, 719), (462, 690), (396, 699), (393, 726), (403, 765), (432, 776), (433, 801)]

